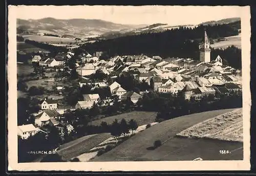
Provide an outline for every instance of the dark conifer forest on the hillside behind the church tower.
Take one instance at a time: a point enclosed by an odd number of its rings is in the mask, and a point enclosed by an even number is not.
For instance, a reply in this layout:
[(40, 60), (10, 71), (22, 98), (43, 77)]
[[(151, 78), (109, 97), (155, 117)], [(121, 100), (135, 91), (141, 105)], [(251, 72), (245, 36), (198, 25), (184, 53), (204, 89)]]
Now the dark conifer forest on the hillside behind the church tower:
[[(167, 30), (161, 33), (124, 36), (115, 39), (96, 41), (94, 43), (83, 45), (81, 48), (89, 53), (103, 51), (109, 56), (136, 55), (143, 53), (148, 56), (159, 55), (163, 58), (184, 57), (198, 60), (198, 44), (204, 36), (204, 29), (212, 41), (212, 39), (238, 35), (239, 29), (241, 29), (241, 24), (240, 21), (237, 21), (229, 24), (217, 24), (215, 26), (200, 25), (194, 29), (180, 28)], [(212, 51), (212, 56), (215, 56), (215, 52), (217, 51), (218, 49), (214, 49)], [(222, 51), (222, 54), (225, 53), (225, 51)], [(233, 54), (241, 54), (241, 50), (237, 51), (237, 49), (229, 48), (228, 51), (233, 51)], [(233, 54), (231, 55), (233, 56)], [(224, 54), (224, 56), (225, 58), (223, 59), (228, 63), (232, 63), (232, 58), (229, 57), (229, 55)], [(238, 62), (241, 62), (241, 55), (238, 56)], [(233, 66), (237, 68), (240, 67), (239, 64)]]

